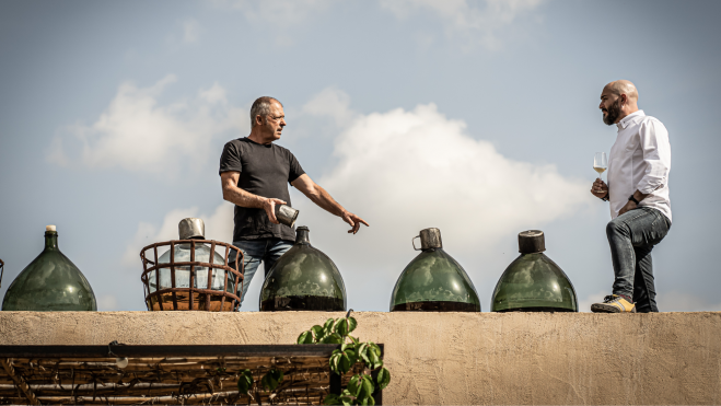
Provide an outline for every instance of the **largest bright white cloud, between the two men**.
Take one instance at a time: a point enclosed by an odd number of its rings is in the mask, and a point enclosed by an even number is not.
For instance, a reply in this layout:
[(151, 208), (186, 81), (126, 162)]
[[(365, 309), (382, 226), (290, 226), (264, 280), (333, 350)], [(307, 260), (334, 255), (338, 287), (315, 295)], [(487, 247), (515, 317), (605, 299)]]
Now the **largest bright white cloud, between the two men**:
[(584, 183), (554, 165), (512, 161), (465, 128), (433, 104), (359, 116), (336, 139), (338, 164), (319, 183), (349, 209), (393, 224), (388, 239), (407, 240), (422, 219), (468, 246), (572, 214), (590, 201)]

